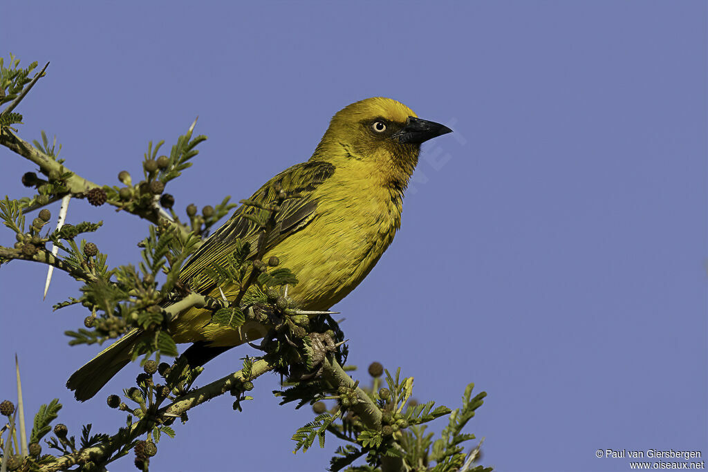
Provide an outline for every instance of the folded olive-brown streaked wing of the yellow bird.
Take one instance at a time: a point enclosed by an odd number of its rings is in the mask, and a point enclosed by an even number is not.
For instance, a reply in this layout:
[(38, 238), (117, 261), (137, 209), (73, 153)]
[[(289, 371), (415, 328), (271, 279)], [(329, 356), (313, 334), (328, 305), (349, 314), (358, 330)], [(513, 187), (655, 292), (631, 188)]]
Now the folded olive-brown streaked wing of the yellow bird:
[[(275, 228), (271, 231), (270, 237), (265, 243), (265, 251), (273, 248), (287, 236), (302, 229), (309, 221), (312, 221), (317, 207), (317, 200), (312, 197), (312, 192), (321, 183), (330, 178), (333, 173), (334, 166), (331, 163), (323, 161), (300, 163), (275, 175), (253, 194), (250, 200), (261, 205), (268, 205), (276, 200), (278, 195), (278, 192), (275, 191), (276, 184), (279, 184), (280, 188), (287, 192), (288, 195), (297, 195), (295, 198), (288, 198), (280, 205), (280, 211), (275, 217)], [(221, 265), (225, 263), (227, 256), (234, 252), (234, 240), (236, 238), (251, 243), (249, 257), (256, 255), (258, 226), (250, 219), (245, 218), (244, 214), (251, 214), (259, 219), (267, 217), (266, 210), (249, 205), (241, 205), (226, 223), (202, 243), (202, 246), (182, 267), (180, 279), (183, 282), (190, 281), (195, 275), (198, 275), (212, 264)], [(198, 287), (191, 288), (195, 292), (207, 293), (214, 287), (211, 282), (204, 280)]]

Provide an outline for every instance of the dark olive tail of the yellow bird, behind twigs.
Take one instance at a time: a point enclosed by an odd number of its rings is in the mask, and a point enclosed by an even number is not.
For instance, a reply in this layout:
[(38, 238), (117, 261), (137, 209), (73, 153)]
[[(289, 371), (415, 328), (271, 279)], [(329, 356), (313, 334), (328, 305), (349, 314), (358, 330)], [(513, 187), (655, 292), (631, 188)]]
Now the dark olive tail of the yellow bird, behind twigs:
[(120, 369), (130, 362), (135, 343), (142, 333), (142, 330), (138, 329), (130, 331), (69, 377), (67, 387), (74, 391), (76, 400), (86, 401), (96, 395), (115, 374), (118, 374)]

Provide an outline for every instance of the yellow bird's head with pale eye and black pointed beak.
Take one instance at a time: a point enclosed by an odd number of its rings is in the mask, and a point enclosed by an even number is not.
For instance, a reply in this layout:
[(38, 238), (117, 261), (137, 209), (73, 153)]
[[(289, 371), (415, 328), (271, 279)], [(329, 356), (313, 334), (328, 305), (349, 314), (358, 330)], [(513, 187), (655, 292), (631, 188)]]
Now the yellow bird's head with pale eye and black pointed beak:
[(445, 125), (421, 120), (396, 100), (367, 98), (334, 115), (313, 159), (370, 161), (407, 183), (418, 163), (421, 143), (450, 132)]

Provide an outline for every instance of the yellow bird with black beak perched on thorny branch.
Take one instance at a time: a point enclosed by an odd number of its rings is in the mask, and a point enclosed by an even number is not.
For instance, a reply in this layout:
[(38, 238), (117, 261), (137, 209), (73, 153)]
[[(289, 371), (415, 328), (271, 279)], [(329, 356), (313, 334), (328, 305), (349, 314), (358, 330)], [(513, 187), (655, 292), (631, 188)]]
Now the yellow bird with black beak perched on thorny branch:
[[(304, 310), (326, 310), (346, 297), (374, 268), (401, 226), (404, 190), (418, 163), (421, 143), (452, 132), (421, 120), (403, 103), (367, 98), (348, 105), (332, 118), (309, 161), (268, 180), (250, 200), (268, 204), (280, 185), (297, 198), (286, 200), (267, 241), (263, 260), (271, 255), (297, 275), (289, 296)], [(190, 282), (206, 267), (219, 264), (234, 250), (234, 240), (256, 248), (258, 228), (241, 206), (205, 240), (181, 270)], [(251, 256), (255, 256), (255, 251)], [(205, 277), (206, 278), (206, 277)], [(210, 282), (191, 287), (221, 297)], [(237, 287), (222, 287), (229, 300)], [(240, 330), (210, 324), (210, 311), (190, 309), (169, 326), (176, 343), (190, 347), (190, 364), (200, 365), (230, 347), (261, 338), (265, 328), (246, 322)], [(67, 386), (76, 399), (88, 400), (130, 362), (141, 334), (132, 330), (74, 372)]]

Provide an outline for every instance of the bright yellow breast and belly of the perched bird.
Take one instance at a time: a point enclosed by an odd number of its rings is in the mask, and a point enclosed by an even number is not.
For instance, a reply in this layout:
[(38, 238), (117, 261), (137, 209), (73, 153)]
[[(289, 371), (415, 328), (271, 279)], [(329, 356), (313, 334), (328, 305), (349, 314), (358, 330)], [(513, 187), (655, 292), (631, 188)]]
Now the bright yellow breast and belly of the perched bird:
[[(299, 283), (289, 296), (302, 309), (326, 310), (346, 297), (372, 270), (393, 241), (401, 221), (398, 192), (372, 178), (370, 166), (356, 159), (337, 166), (335, 173), (313, 193), (317, 200), (312, 221), (266, 253), (275, 255)], [(218, 290), (217, 290), (218, 292)], [(236, 287), (227, 287), (229, 299)], [(219, 294), (212, 294), (218, 297)], [(246, 333), (265, 333), (257, 326), (240, 331), (210, 325), (208, 311), (192, 309), (171, 326), (177, 343), (210, 341), (213, 345), (244, 343)], [(249, 339), (259, 336), (250, 335)]]

